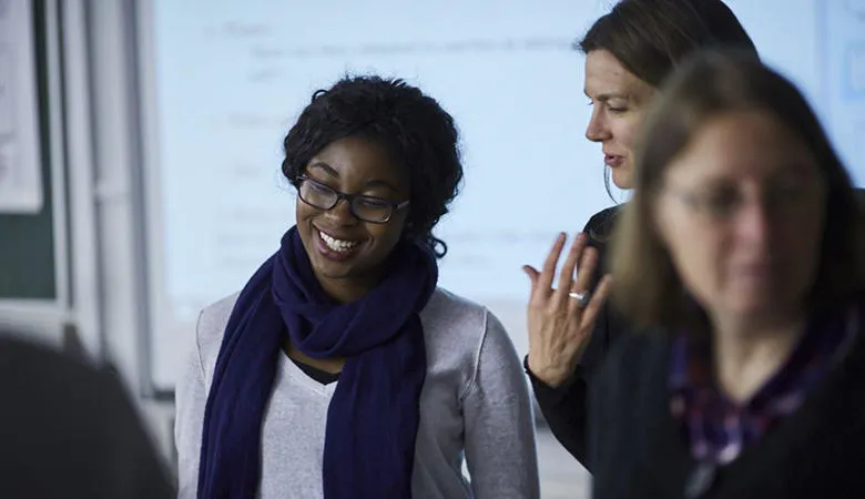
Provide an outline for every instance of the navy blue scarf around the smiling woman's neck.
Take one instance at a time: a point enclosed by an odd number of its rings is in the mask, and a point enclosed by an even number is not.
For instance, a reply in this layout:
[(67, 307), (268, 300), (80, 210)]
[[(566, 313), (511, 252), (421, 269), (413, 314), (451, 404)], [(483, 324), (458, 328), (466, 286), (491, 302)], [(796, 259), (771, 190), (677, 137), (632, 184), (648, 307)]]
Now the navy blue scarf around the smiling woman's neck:
[(366, 296), (336, 304), (316, 281), (296, 227), (283, 236), (225, 328), (204, 411), (200, 499), (256, 496), (262, 420), (286, 338), (314, 358), (348, 358), (327, 413), (324, 497), (410, 497), (426, 376), (418, 313), (438, 269), (430, 252), (407, 242), (387, 267)]

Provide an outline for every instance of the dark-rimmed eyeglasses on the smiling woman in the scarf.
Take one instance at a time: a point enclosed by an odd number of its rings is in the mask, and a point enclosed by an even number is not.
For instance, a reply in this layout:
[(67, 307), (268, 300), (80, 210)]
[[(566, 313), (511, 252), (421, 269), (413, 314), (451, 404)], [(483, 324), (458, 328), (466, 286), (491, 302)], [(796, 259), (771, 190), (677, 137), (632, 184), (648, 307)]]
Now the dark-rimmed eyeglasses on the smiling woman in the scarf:
[(308, 176), (301, 176), (298, 182), (297, 194), (304, 203), (318, 210), (328, 211), (333, 210), (340, 200), (345, 200), (352, 214), (364, 222), (387, 223), (395, 212), (408, 206), (408, 201), (394, 203), (380, 197), (338, 192)]

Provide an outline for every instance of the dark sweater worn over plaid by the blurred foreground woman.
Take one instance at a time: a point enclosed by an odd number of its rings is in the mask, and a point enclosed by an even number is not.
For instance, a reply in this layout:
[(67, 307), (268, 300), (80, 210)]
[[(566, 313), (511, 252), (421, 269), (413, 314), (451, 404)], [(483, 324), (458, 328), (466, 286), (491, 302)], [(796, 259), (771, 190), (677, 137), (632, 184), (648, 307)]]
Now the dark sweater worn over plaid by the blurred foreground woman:
[[(671, 415), (670, 342), (629, 335), (593, 380), (589, 461), (593, 497), (865, 497), (865, 342), (814, 387), (803, 406), (723, 468), (698, 465)], [(691, 492), (686, 493), (688, 488)]]

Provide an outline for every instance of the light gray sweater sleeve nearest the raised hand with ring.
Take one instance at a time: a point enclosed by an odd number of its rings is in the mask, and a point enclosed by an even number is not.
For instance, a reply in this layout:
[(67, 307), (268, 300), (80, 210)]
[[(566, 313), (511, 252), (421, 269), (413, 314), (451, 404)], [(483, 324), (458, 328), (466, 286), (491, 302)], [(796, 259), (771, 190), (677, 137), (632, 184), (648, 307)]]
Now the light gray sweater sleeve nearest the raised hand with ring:
[(474, 380), (462, 396), (466, 464), (477, 499), (540, 497), (535, 419), (510, 337), (487, 312)]

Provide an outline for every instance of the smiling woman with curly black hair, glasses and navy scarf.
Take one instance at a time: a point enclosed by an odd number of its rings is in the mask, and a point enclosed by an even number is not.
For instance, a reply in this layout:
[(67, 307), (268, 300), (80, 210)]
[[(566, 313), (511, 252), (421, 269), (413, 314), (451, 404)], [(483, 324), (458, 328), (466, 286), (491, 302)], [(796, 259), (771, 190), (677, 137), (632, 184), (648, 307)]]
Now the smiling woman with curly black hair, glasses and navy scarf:
[(451, 116), (400, 80), (346, 78), (284, 146), (296, 225), (201, 314), (177, 384), (180, 496), (538, 497), (513, 345), (437, 287), (432, 228), (462, 179)]

